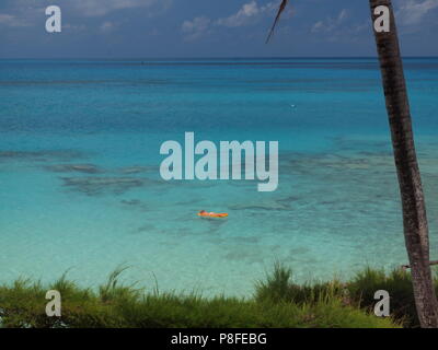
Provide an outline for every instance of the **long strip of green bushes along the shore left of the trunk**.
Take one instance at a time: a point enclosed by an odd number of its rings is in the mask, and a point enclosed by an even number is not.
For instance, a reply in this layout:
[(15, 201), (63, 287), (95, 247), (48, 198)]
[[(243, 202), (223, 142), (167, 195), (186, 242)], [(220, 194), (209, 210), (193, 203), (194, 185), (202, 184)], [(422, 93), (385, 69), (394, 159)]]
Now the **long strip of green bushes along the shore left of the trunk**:
[[(111, 273), (96, 291), (78, 287), (66, 275), (51, 285), (18, 280), (0, 287), (0, 324), (3, 327), (415, 327), (408, 272), (366, 269), (348, 282), (297, 284), (290, 269), (276, 265), (255, 285), (251, 299), (145, 292), (119, 282), (124, 268)], [(47, 317), (45, 293), (62, 295), (62, 316)], [(393, 318), (372, 314), (377, 290), (391, 295)]]

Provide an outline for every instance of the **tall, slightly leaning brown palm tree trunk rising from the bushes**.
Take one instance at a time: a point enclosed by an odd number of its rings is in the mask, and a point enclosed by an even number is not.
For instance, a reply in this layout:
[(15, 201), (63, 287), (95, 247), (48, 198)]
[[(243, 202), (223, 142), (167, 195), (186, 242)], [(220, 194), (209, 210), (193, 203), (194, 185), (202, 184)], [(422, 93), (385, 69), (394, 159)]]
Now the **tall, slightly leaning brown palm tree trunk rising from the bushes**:
[(422, 327), (438, 328), (438, 301), (429, 267), (426, 208), (415, 153), (395, 18), (391, 0), (370, 0), (373, 21), (377, 18), (374, 9), (379, 5), (390, 9), (390, 32), (378, 33), (374, 30), (374, 36), (402, 197), (404, 236), (412, 267), (415, 304)]

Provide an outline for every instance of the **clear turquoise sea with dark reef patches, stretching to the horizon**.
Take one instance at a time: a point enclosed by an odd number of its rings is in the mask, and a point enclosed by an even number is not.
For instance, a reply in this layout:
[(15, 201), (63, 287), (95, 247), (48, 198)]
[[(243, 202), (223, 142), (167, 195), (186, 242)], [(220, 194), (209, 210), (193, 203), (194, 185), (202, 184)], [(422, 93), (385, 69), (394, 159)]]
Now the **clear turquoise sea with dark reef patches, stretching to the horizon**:
[[(436, 258), (438, 59), (405, 69)], [(147, 288), (247, 295), (276, 260), (301, 281), (406, 262), (379, 79), (372, 59), (1, 60), (0, 281), (126, 264)], [(186, 131), (279, 141), (277, 191), (163, 182), (160, 145)]]

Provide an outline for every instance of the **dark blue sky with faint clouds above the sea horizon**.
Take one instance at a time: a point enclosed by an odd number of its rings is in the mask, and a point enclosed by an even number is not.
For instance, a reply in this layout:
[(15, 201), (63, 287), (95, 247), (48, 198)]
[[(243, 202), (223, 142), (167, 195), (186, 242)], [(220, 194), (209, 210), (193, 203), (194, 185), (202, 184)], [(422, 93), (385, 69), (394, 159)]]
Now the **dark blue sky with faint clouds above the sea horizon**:
[[(47, 33), (58, 5), (62, 32)], [(0, 58), (376, 56), (367, 0), (0, 0)], [(393, 0), (403, 56), (438, 56), (438, 0)]]

